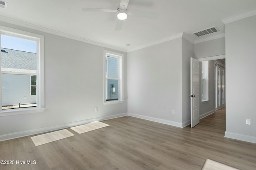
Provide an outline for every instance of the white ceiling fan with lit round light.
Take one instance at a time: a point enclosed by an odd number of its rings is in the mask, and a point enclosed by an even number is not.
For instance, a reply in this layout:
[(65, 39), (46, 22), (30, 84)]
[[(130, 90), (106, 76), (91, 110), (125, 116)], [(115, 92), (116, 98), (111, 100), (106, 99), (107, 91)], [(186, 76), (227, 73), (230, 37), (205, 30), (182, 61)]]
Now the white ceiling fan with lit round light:
[(157, 13), (154, 12), (145, 12), (145, 11), (137, 11), (137, 10), (127, 10), (127, 6), (130, 0), (120, 0), (120, 6), (117, 10), (109, 10), (109, 9), (101, 9), (101, 8), (82, 8), (84, 12), (115, 12), (117, 13), (117, 23), (116, 23), (116, 31), (122, 29), (123, 20), (127, 18), (129, 15), (148, 18), (148, 19), (156, 19), (158, 17)]

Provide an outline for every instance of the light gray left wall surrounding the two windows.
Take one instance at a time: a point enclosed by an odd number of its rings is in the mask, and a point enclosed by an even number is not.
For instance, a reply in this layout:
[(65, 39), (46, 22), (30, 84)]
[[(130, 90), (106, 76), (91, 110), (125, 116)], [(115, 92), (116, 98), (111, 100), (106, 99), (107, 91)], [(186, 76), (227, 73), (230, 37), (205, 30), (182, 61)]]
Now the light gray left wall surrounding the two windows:
[[(44, 35), (45, 110), (2, 116), (0, 138), (8, 134), (127, 113), (127, 54), (1, 22), (1, 25)], [(124, 54), (123, 104), (103, 105), (103, 50)], [(94, 111), (98, 107), (98, 112)]]

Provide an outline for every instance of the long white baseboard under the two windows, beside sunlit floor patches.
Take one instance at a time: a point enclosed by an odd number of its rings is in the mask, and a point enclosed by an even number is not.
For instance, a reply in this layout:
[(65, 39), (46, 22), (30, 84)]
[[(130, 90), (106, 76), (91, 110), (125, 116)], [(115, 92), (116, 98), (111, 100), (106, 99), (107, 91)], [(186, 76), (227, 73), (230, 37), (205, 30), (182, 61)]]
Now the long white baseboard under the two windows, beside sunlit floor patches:
[(4, 134), (4, 135), (0, 135), (0, 141), (6, 141), (9, 139), (14, 139), (14, 138), (19, 138), (19, 137), (24, 137), (24, 136), (29, 136), (29, 135), (35, 135), (38, 133), (44, 133), (44, 132), (49, 132), (49, 131), (56, 131), (59, 129), (65, 129), (65, 128), (69, 128), (69, 127), (84, 125), (86, 123), (90, 123), (93, 121), (102, 121), (102, 120), (107, 120), (107, 119), (114, 119), (117, 117), (123, 117), (123, 116), (127, 116), (127, 113), (120, 113), (120, 114), (116, 114), (116, 115), (109, 115), (109, 116), (97, 117), (97, 118), (93, 118), (93, 119), (86, 119), (86, 120), (82, 120), (82, 121), (64, 123), (61, 125), (43, 127), (43, 128), (33, 129), (33, 130), (29, 130), (29, 131), (20, 131), (20, 132), (15, 132), (15, 133)]

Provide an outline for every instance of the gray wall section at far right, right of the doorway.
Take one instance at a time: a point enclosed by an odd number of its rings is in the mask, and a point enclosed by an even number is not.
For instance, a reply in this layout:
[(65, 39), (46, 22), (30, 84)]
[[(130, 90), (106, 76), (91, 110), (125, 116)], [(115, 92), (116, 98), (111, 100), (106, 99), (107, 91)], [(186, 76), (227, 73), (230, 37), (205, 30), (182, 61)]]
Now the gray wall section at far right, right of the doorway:
[[(226, 137), (256, 143), (256, 16), (226, 24)], [(251, 125), (246, 125), (251, 119)]]

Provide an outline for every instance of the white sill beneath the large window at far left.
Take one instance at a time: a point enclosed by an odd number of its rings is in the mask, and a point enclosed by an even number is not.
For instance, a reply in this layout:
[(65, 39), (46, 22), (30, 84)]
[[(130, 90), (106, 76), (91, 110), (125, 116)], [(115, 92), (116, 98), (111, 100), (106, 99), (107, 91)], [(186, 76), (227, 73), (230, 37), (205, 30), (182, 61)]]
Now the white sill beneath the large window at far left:
[(21, 115), (28, 113), (41, 113), (45, 108), (18, 108), (18, 109), (6, 109), (0, 111), (1, 116), (12, 116), (12, 115)]

